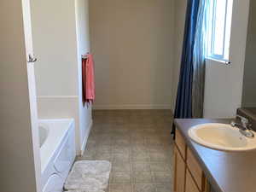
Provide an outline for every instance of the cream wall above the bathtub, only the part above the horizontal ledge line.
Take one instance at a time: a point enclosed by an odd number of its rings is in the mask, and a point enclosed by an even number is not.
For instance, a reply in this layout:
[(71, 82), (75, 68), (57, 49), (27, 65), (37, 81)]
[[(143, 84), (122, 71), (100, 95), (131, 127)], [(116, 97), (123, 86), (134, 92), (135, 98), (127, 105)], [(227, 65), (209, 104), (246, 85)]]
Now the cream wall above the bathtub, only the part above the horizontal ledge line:
[(75, 3), (32, 1), (38, 96), (78, 96)]

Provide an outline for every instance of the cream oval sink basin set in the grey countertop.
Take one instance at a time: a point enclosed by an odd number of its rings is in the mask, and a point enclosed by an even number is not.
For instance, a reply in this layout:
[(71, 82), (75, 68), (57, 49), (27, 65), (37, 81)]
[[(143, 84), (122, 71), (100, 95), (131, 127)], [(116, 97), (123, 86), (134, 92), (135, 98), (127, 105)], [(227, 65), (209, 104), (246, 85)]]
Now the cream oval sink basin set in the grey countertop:
[[(256, 136), (256, 133), (253, 132)], [(224, 151), (247, 151), (256, 149), (256, 137), (241, 135), (236, 127), (228, 124), (201, 124), (189, 129), (189, 137), (207, 148)]]

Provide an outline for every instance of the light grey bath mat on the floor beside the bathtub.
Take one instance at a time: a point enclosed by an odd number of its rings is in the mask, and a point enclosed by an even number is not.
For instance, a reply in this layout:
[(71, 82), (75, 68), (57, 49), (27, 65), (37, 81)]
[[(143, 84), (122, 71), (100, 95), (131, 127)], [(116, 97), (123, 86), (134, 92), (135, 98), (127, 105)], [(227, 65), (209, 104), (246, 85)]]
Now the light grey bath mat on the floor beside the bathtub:
[(111, 163), (107, 160), (80, 160), (75, 162), (64, 185), (76, 192), (100, 192), (108, 188)]

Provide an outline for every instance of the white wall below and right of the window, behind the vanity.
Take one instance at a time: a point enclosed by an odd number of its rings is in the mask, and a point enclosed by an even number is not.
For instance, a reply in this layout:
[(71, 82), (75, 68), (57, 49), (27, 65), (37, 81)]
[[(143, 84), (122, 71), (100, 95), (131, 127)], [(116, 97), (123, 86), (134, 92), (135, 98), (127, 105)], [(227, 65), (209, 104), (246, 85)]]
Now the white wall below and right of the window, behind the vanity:
[(230, 118), (241, 107), (249, 0), (234, 0), (230, 42), (231, 65), (207, 61), (205, 118)]

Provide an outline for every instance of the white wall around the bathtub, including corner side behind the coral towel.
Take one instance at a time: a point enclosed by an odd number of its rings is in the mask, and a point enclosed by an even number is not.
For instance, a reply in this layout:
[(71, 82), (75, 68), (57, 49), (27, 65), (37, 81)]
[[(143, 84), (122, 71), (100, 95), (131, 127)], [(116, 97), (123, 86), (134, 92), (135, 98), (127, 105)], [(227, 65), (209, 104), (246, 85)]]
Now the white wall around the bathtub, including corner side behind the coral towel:
[(91, 125), (91, 109), (81, 107), (80, 60), (90, 49), (87, 0), (33, 1), (32, 28), (39, 118), (74, 118), (80, 154)]

